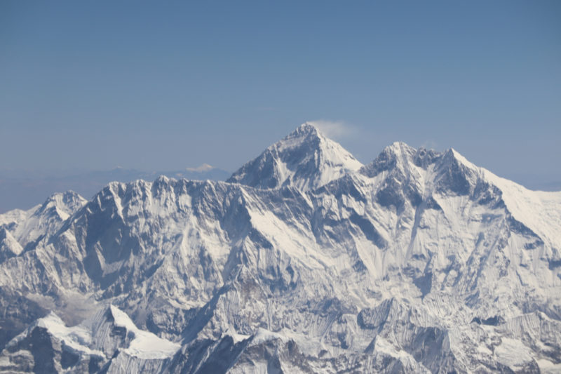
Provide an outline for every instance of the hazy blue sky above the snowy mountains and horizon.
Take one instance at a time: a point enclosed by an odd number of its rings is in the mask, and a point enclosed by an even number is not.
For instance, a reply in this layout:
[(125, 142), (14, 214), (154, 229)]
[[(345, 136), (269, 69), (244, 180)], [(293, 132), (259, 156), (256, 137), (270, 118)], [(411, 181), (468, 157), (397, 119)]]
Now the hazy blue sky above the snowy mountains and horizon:
[(0, 1), (0, 169), (233, 171), (313, 120), (559, 180), (561, 1)]

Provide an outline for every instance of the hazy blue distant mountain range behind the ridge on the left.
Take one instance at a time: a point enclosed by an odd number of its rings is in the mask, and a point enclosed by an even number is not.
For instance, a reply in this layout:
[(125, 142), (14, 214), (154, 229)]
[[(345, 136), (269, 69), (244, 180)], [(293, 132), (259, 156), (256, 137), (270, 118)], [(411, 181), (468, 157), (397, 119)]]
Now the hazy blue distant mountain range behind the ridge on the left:
[(226, 180), (231, 173), (203, 164), (182, 171), (137, 171), (114, 168), (111, 171), (34, 173), (0, 171), (0, 213), (12, 209), (28, 209), (55, 192), (72, 190), (90, 198), (109, 182), (154, 180), (159, 175), (190, 180)]

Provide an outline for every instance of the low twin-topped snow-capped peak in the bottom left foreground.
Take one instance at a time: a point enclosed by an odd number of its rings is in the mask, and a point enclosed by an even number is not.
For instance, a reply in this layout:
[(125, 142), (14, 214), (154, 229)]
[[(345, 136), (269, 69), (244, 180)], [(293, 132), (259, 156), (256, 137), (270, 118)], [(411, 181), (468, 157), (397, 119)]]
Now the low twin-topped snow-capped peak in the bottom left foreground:
[(126, 313), (112, 305), (72, 327), (51, 312), (6, 345), (0, 370), (161, 371), (180, 347), (138, 329)]

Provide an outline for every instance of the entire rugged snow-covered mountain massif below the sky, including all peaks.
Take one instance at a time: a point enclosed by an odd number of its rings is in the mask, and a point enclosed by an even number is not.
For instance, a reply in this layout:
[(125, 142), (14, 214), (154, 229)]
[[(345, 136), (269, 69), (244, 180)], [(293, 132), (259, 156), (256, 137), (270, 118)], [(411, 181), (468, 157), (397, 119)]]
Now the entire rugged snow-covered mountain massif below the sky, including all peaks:
[(227, 182), (0, 215), (0, 368), (555, 372), (560, 227), (560, 192), (454, 149), (364, 166), (304, 124)]

